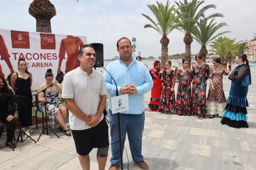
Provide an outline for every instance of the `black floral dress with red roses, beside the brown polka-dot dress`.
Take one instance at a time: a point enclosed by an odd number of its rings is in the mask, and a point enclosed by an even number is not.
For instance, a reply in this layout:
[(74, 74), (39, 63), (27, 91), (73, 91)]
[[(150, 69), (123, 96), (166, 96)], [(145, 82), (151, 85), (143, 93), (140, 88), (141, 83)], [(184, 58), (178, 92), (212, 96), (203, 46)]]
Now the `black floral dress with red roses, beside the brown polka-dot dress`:
[(209, 65), (204, 63), (201, 67), (192, 66), (194, 80), (192, 86), (192, 113), (193, 115), (206, 115), (206, 85), (209, 78)]

